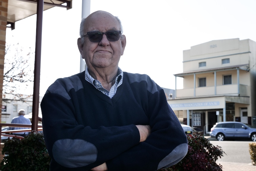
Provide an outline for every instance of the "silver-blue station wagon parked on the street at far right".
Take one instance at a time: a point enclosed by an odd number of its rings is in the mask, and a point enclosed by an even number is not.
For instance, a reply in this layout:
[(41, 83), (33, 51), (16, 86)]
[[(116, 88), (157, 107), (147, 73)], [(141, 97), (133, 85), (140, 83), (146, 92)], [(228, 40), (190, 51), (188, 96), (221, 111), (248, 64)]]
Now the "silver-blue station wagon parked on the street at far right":
[(218, 122), (211, 128), (210, 136), (219, 141), (225, 139), (251, 139), (256, 141), (256, 128), (241, 122)]

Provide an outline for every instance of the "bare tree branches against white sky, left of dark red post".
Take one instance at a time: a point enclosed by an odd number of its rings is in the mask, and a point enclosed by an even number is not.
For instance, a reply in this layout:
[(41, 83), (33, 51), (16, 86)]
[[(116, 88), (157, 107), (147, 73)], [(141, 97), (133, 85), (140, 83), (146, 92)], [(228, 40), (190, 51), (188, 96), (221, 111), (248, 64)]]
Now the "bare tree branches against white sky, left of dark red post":
[[(2, 100), (7, 103), (14, 100), (25, 101), (28, 96), (20, 92), (34, 80), (34, 51), (31, 48), (24, 49), (18, 43), (6, 44), (5, 47)], [(15, 96), (9, 99), (4, 94)]]

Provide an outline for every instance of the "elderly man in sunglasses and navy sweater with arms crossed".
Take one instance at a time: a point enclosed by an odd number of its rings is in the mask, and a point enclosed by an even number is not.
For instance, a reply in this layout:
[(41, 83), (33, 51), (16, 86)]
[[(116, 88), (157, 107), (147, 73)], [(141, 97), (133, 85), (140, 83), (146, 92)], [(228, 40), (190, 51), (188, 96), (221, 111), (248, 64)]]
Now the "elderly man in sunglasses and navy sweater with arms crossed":
[(187, 154), (164, 90), (118, 67), (125, 46), (117, 17), (96, 11), (82, 20), (78, 49), (86, 70), (57, 79), (41, 102), (51, 171), (155, 171)]

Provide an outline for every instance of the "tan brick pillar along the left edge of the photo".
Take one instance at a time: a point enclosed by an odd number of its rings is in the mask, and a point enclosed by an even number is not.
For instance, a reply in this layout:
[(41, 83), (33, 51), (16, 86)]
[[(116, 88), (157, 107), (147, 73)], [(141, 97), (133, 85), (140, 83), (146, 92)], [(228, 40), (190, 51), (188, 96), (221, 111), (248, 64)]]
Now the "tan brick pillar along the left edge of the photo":
[[(7, 9), (8, 9), (8, 0), (1, 0), (0, 1), (0, 106), (2, 106)], [(1, 117), (2, 117), (2, 110), (0, 110), (0, 123), (1, 123)], [(0, 162), (3, 160), (3, 157), (4, 157), (4, 155), (2, 154), (3, 147), (4, 147), (4, 144), (1, 143)]]

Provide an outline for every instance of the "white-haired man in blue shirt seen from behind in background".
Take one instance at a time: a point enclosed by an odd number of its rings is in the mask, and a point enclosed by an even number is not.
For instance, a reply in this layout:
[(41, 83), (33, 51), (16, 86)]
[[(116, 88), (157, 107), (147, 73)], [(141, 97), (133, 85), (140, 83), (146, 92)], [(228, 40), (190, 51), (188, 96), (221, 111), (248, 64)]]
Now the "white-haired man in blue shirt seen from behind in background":
[[(12, 118), (12, 122), (11, 123), (19, 123), (19, 124), (31, 124), (31, 121), (24, 117), (25, 115), (25, 110), (24, 109), (20, 109), (19, 110), (19, 116)], [(28, 128), (21, 128), (21, 127), (11, 127), (10, 130), (18, 130), (18, 129), (28, 129)], [(17, 132), (17, 133), (12, 133), (13, 135), (20, 135), (25, 137), (26, 135), (29, 134), (29, 132)]]

